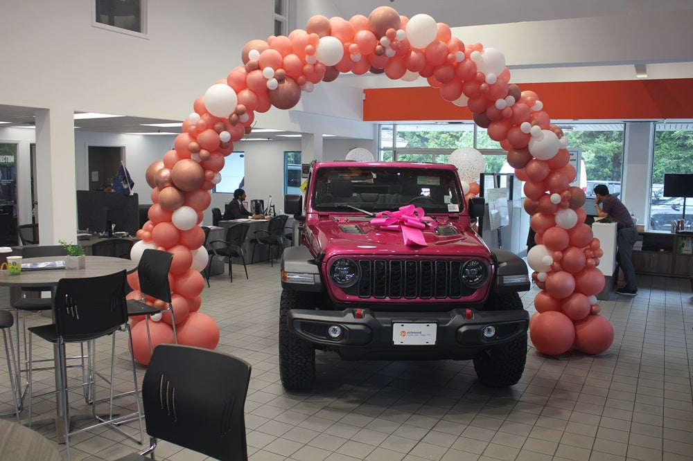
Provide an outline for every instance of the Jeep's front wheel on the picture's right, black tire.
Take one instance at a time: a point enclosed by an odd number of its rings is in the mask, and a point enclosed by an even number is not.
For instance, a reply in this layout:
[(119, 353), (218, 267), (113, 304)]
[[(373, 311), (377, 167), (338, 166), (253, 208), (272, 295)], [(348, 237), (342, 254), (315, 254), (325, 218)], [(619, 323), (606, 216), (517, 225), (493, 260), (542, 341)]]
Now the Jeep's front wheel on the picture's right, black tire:
[[(518, 293), (490, 293), (486, 300), (488, 310), (523, 309)], [(527, 333), (519, 338), (482, 351), (474, 359), (477, 378), (485, 386), (505, 388), (520, 381), (527, 360)]]

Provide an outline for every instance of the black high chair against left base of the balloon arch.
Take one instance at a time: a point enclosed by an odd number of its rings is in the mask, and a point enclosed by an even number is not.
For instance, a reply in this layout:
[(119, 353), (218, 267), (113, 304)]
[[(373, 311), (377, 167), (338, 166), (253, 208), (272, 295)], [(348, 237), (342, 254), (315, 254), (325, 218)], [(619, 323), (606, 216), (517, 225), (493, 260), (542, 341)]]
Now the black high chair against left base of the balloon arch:
[[(149, 332), (149, 316), (159, 314), (159, 312), (170, 312), (173, 341), (178, 343), (173, 305), (171, 305), (171, 289), (168, 284), (168, 269), (170, 269), (171, 261), (173, 261), (173, 253), (168, 253), (168, 251), (153, 250), (152, 248), (143, 251), (139, 264), (137, 264), (137, 279), (142, 298), (140, 300), (128, 300), (128, 317), (145, 316), (150, 353), (152, 352), (152, 336)], [(146, 304), (144, 302), (145, 296), (162, 300), (166, 302), (168, 307), (160, 311), (156, 307)]]

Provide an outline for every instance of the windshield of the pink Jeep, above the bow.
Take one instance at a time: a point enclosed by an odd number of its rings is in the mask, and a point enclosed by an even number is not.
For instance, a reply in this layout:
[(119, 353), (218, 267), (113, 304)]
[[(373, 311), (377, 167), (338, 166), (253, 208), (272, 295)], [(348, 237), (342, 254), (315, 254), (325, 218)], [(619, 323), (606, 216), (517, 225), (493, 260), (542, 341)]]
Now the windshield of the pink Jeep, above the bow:
[(453, 170), (354, 165), (315, 172), (313, 209), (341, 211), (360, 208), (370, 213), (414, 204), (426, 213), (461, 213), (462, 191)]

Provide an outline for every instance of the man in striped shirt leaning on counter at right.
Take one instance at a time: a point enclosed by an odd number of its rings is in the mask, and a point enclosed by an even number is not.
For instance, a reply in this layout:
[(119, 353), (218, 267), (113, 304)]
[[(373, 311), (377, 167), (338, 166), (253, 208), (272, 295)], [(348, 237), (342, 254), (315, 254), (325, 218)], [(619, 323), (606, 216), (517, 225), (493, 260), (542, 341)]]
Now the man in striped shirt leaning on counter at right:
[[(616, 290), (622, 296), (635, 296), (638, 294), (638, 287), (635, 284), (635, 269), (633, 268), (633, 245), (638, 239), (638, 230), (633, 224), (631, 213), (619, 199), (609, 194), (608, 188), (604, 184), (598, 184), (594, 189), (595, 210), (599, 217), (611, 217), (616, 222), (616, 262), (623, 271), (626, 279), (626, 286)], [(602, 208), (599, 208), (602, 204)]]

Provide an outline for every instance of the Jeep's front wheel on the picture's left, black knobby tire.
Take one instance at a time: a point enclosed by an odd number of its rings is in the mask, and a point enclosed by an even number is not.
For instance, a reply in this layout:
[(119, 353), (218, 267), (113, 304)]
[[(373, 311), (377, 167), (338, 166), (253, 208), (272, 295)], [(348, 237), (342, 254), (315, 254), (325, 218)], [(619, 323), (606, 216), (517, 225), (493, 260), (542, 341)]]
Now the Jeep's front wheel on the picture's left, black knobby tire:
[(279, 306), (279, 377), (286, 390), (315, 386), (315, 347), (289, 331), (289, 309), (310, 309), (312, 293), (283, 290)]

